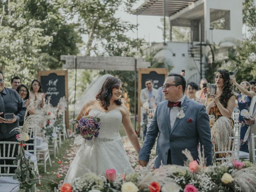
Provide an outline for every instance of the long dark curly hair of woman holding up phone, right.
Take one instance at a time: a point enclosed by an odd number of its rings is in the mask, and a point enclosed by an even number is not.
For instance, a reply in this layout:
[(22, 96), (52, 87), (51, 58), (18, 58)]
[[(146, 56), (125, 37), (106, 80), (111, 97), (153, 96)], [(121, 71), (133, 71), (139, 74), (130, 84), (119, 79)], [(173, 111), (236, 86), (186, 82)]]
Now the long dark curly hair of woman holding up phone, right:
[(229, 72), (225, 69), (217, 70), (217, 73), (222, 75), (224, 80), (224, 86), (222, 88), (222, 94), (220, 95), (220, 103), (226, 108), (228, 106), (228, 100), (231, 96), (233, 96), (233, 85), (230, 82)]

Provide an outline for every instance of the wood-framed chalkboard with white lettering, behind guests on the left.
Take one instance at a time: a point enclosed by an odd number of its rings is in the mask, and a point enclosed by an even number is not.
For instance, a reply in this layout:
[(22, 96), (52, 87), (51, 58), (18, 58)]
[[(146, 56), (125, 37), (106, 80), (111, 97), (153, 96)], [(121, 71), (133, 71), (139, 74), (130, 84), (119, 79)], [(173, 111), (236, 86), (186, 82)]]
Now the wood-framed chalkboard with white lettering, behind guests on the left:
[[(46, 99), (51, 96), (50, 104), (56, 107), (61, 97), (68, 100), (68, 71), (49, 70), (38, 71), (38, 80), (42, 84), (42, 90), (46, 93)], [(66, 128), (68, 127), (68, 110), (65, 113)]]

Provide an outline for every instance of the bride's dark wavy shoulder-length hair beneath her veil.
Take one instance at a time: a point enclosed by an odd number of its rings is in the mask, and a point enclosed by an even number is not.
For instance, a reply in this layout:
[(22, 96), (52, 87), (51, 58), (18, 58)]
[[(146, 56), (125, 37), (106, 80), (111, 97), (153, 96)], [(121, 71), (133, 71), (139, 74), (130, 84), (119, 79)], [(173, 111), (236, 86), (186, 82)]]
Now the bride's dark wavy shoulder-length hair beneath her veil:
[[(119, 87), (122, 84), (122, 81), (118, 77), (110, 76), (106, 79), (102, 88), (96, 95), (96, 100), (101, 101), (102, 107), (105, 110), (108, 110), (108, 106), (110, 105), (110, 98), (112, 97), (112, 90), (115, 87)], [(114, 101), (117, 105), (121, 105), (122, 101), (119, 98)]]

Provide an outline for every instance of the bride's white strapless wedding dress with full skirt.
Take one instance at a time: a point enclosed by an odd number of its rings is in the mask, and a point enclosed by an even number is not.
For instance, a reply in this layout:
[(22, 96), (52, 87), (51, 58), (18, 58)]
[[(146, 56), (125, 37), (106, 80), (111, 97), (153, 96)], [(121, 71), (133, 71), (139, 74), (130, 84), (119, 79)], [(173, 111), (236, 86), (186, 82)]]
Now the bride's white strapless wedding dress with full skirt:
[(64, 183), (72, 183), (88, 172), (105, 176), (107, 169), (115, 169), (116, 174), (129, 174), (134, 171), (118, 132), (122, 123), (121, 112), (118, 109), (109, 112), (92, 109), (89, 115), (100, 118), (100, 134), (93, 140), (82, 139)]

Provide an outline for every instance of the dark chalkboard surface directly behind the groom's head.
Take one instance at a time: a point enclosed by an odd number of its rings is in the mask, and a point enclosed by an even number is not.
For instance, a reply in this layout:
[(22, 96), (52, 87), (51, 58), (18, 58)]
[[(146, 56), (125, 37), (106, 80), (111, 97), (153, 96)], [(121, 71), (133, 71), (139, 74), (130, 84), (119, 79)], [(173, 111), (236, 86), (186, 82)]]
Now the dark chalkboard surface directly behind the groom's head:
[(146, 79), (151, 79), (153, 81), (153, 87), (158, 89), (164, 84), (166, 74), (158, 74), (156, 71), (151, 71), (148, 74), (141, 74), (141, 89), (146, 88)]

